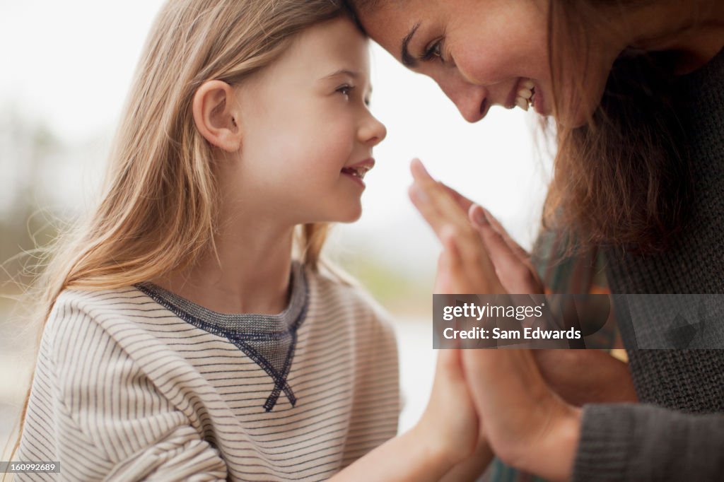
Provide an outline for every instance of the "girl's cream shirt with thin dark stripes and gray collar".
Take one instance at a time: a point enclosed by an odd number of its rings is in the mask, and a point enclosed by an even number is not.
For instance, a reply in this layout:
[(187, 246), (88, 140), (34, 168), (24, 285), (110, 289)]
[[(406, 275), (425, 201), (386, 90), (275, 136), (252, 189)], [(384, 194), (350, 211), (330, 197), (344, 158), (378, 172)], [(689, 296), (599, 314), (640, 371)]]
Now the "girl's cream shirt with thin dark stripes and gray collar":
[(397, 349), (355, 287), (295, 263), (277, 316), (151, 284), (63, 292), (43, 331), (18, 480), (321, 480), (395, 436)]

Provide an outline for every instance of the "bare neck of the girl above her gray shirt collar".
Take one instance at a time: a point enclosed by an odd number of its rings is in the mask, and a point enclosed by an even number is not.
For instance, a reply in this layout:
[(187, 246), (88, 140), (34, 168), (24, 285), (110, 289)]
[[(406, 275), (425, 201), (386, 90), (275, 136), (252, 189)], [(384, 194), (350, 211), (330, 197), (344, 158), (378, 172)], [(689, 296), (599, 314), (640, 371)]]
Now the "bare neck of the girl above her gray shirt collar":
[(156, 284), (219, 313), (282, 312), (289, 299), (293, 227), (227, 223), (189, 269)]

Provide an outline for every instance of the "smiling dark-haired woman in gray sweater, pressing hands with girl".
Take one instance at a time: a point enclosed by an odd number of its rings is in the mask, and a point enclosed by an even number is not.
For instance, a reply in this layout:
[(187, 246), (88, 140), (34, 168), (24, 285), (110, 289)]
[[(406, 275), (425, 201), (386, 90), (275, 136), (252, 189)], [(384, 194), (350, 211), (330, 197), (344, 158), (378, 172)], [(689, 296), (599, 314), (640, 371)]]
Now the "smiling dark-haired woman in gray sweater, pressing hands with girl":
[[(493, 105), (550, 116), (558, 153), (544, 221), (605, 252), (613, 293), (724, 292), (723, 2), (355, 0), (353, 9), (468, 121)], [(464, 212), (421, 165), (413, 174), (413, 202), (445, 245), (450, 292), (540, 291), (514, 246), (479, 235), (480, 208)], [(687, 346), (724, 347), (722, 331), (715, 323)], [(466, 350), (494, 452), (553, 480), (720, 480), (724, 352), (636, 350), (660, 340), (622, 335), (638, 404), (579, 409), (531, 352)]]

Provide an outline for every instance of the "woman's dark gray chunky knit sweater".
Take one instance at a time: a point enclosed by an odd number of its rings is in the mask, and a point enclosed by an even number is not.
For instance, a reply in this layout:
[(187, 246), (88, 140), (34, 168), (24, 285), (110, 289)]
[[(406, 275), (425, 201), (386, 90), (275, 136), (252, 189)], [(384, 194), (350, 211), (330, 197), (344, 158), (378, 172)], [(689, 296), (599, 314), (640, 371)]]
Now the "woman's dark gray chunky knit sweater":
[[(680, 82), (692, 213), (665, 253), (606, 253), (613, 293), (724, 293), (724, 51)], [(573, 480), (724, 481), (724, 350), (637, 350), (647, 340), (622, 335), (641, 403), (584, 406)]]

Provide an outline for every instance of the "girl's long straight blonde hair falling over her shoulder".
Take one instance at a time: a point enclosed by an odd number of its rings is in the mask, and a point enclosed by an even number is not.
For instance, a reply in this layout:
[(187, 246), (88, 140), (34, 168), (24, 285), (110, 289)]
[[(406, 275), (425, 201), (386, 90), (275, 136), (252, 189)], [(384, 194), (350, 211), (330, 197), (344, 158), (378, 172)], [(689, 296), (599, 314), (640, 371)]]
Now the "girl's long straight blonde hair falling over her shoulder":
[[(219, 201), (211, 148), (193, 122), (195, 91), (206, 80), (240, 83), (281, 56), (297, 33), (343, 12), (336, 0), (167, 1), (135, 73), (101, 201), (56, 242), (38, 279), (43, 322), (64, 289), (158, 279), (214, 249)], [(296, 233), (310, 269), (318, 268), (326, 235), (326, 224)], [(27, 405), (26, 397), (22, 419)]]

